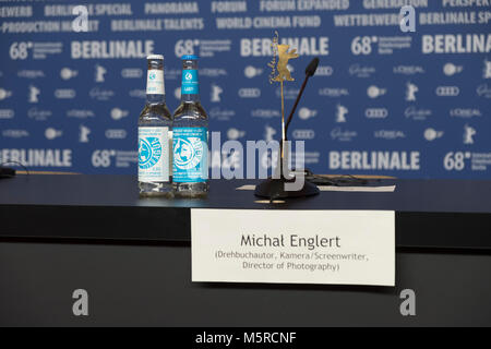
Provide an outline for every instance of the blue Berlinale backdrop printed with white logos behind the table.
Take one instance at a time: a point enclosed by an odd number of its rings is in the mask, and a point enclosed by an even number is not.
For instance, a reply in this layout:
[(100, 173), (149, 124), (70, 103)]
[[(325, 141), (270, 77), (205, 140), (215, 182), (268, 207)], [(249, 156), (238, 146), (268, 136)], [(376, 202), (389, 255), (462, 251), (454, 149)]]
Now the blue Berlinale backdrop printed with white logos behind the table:
[[(271, 40), (300, 53), (289, 111), (313, 57), (291, 140), (316, 173), (489, 178), (491, 1), (0, 1), (0, 163), (136, 173), (146, 55), (165, 56), (167, 105), (182, 55), (200, 56), (202, 104), (221, 141), (278, 140)], [(73, 9), (88, 32), (74, 32)], [(399, 10), (416, 9), (416, 32)], [(76, 12), (76, 14), (82, 12)], [(224, 155), (225, 165), (242, 166)], [(219, 166), (219, 152), (211, 166)], [(263, 161), (264, 163), (264, 161)], [(263, 164), (264, 165), (264, 164)]]

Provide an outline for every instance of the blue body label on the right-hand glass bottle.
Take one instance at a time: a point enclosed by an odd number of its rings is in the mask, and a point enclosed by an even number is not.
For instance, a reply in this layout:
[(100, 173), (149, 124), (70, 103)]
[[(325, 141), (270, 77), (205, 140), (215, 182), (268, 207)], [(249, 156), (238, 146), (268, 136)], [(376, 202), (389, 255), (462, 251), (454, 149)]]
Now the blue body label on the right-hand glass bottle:
[(206, 182), (208, 179), (208, 142), (206, 128), (175, 128), (173, 181)]

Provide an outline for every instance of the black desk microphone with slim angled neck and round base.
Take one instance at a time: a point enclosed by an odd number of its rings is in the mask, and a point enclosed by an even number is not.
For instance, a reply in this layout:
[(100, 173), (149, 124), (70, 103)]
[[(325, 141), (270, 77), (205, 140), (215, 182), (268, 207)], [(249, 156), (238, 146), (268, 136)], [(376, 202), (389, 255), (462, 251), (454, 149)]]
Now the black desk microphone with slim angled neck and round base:
[[(271, 201), (275, 198), (292, 198), (292, 197), (306, 197), (306, 196), (312, 196), (320, 193), (319, 188), (306, 181), (303, 178), (303, 186), (302, 189), (298, 191), (286, 191), (285, 185), (287, 183), (294, 183), (296, 181), (296, 178), (287, 178), (286, 173), (284, 173), (284, 166), (285, 161), (288, 161), (289, 159), (289, 152), (285, 152), (285, 144), (288, 141), (288, 127), (290, 125), (291, 119), (294, 118), (295, 111), (297, 110), (298, 104), (303, 95), (303, 91), (306, 89), (307, 83), (311, 76), (314, 75), (315, 70), (319, 64), (319, 58), (314, 58), (312, 62), (309, 64), (309, 67), (306, 69), (306, 79), (303, 80), (302, 86), (300, 88), (300, 92), (297, 96), (297, 99), (295, 100), (294, 108), (290, 111), (290, 115), (288, 116), (288, 120), (286, 123), (282, 123), (282, 143), (279, 145), (279, 178), (270, 178), (267, 180), (262, 181), (256, 188), (254, 195), (260, 197), (267, 197)], [(282, 82), (283, 87), (283, 82)], [(282, 109), (284, 109), (284, 105), (282, 103)], [(283, 111), (283, 110), (282, 110)], [(282, 113), (283, 115), (283, 113)], [(285, 156), (285, 154), (288, 154), (288, 156)], [(286, 164), (288, 168), (288, 164)], [(302, 173), (304, 176), (304, 173)]]

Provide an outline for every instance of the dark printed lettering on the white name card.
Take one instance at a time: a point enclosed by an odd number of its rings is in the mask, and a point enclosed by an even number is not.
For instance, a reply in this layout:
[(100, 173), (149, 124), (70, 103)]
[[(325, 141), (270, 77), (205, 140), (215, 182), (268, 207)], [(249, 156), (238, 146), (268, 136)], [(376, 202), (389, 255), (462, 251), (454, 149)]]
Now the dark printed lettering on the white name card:
[[(255, 251), (215, 252), (216, 260), (235, 261), (242, 269), (249, 270), (308, 270), (339, 273), (344, 262), (363, 263), (369, 261), (367, 254), (336, 253), (342, 248), (342, 238), (322, 238), (319, 234), (304, 238), (298, 234), (242, 234), (241, 248), (254, 248)], [(268, 252), (256, 252), (267, 248)], [(297, 252), (280, 251), (282, 248), (295, 248)], [(290, 250), (291, 251), (291, 250)]]

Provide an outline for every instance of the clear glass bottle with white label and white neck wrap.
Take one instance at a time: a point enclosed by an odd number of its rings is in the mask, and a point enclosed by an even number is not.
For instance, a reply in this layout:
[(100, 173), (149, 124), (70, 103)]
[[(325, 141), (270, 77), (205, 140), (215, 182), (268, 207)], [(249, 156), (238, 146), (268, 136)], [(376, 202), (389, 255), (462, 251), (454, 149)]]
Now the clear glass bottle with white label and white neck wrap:
[(139, 118), (139, 188), (141, 196), (172, 196), (172, 116), (166, 106), (164, 56), (147, 57), (146, 104)]

